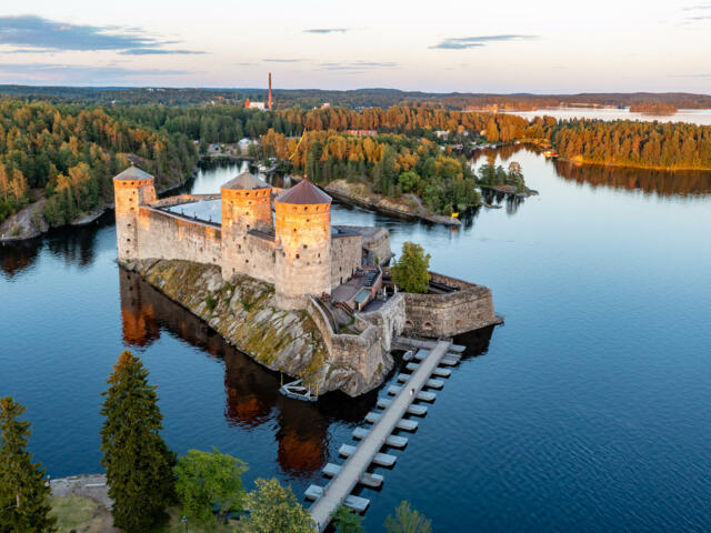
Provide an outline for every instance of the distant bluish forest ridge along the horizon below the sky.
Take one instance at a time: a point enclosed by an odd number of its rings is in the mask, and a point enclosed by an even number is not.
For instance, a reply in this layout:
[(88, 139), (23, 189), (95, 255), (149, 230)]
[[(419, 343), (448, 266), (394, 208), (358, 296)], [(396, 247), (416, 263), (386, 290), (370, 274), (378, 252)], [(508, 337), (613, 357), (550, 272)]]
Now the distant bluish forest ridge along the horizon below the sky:
[[(194, 105), (212, 102), (234, 104), (248, 99), (263, 101), (267, 97), (267, 89), (0, 86), (0, 95), (22, 97), (30, 101), (48, 100), (51, 102)], [(710, 94), (685, 92), (485, 94), (400, 91), (398, 89), (356, 89), (347, 91), (274, 89), (273, 98), (277, 108), (280, 109), (293, 105), (312, 108), (320, 107), (323, 103), (350, 108), (388, 108), (409, 104), (441, 105), (449, 109), (491, 109), (498, 107), (515, 110), (535, 110), (557, 105), (627, 108), (658, 103), (678, 109), (711, 109)]]

